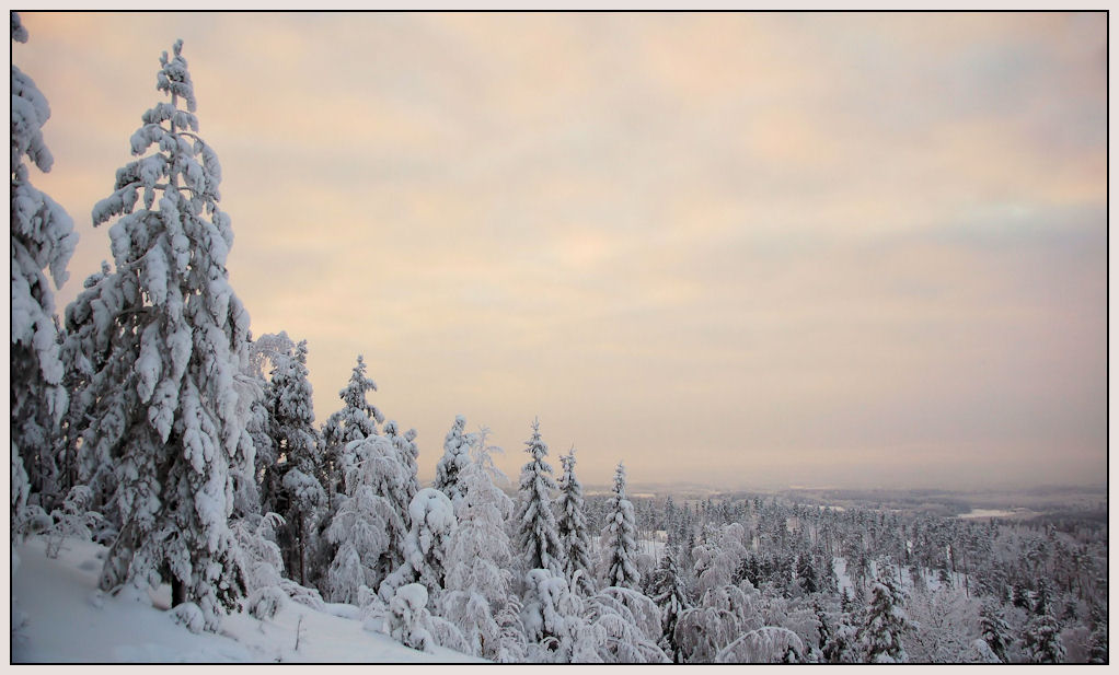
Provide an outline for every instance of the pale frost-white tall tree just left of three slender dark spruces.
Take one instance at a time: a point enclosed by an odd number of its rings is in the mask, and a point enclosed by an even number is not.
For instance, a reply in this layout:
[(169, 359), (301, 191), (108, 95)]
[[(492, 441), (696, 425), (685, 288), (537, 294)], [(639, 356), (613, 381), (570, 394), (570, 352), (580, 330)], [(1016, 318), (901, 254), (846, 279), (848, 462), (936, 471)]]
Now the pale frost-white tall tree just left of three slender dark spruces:
[(470, 463), (459, 473), (464, 492), (459, 526), (448, 542), (443, 617), (462, 630), (471, 654), (497, 659), (509, 649), (495, 617), (508, 600), (513, 580), (513, 553), (505, 533), (513, 501), (495, 484), (505, 476), (490, 456), (500, 448), (487, 445), (489, 429), (473, 437)]

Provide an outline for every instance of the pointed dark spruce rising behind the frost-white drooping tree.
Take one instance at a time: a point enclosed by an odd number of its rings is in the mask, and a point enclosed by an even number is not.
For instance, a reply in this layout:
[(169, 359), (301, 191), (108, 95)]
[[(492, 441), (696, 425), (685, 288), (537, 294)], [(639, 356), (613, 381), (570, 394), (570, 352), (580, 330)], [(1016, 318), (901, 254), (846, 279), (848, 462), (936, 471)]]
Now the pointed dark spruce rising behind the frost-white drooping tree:
[(342, 408), (322, 426), (322, 440), (327, 448), (322, 457), (322, 484), (331, 507), (335, 495), (349, 494), (346, 475), (348, 466), (354, 463), (347, 453), (349, 444), (376, 436), (377, 424), (385, 420), (380, 410), (365, 399), (366, 392), (377, 390), (377, 383), (365, 375), (365, 360), (358, 354), (349, 382), (338, 392)]

